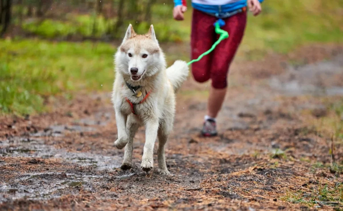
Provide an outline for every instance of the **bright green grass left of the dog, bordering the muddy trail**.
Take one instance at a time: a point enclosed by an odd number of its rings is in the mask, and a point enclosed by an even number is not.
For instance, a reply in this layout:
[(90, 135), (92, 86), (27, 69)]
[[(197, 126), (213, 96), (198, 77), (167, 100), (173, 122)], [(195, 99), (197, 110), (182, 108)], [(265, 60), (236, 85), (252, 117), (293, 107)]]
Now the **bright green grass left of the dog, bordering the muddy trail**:
[(110, 90), (114, 52), (102, 43), (0, 40), (0, 112), (40, 112), (49, 95)]

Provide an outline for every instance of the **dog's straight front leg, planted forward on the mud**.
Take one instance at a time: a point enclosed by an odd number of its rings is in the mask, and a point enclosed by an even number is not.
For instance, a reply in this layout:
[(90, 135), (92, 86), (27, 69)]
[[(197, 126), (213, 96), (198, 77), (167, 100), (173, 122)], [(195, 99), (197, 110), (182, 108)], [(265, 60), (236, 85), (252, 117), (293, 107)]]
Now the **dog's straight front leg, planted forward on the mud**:
[(154, 145), (157, 138), (158, 118), (148, 118), (145, 123), (145, 144), (143, 148), (143, 156), (141, 168), (148, 172), (154, 166)]

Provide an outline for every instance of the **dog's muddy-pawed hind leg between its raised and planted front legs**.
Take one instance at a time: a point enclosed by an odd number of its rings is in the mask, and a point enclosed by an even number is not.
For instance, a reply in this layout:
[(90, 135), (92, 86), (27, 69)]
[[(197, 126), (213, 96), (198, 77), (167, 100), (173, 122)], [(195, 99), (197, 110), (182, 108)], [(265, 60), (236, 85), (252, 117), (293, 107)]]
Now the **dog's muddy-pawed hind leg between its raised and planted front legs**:
[(126, 124), (126, 133), (128, 135), (128, 143), (125, 146), (124, 159), (120, 168), (123, 170), (130, 169), (132, 162), (132, 151), (133, 151), (133, 138), (137, 133), (139, 123), (132, 116), (128, 116)]

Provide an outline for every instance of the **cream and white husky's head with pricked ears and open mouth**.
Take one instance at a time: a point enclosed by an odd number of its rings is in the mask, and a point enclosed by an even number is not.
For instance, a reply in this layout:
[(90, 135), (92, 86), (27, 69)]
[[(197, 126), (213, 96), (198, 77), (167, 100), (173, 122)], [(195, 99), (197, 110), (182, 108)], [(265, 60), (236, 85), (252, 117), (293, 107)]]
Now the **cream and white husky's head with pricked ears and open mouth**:
[(165, 59), (153, 25), (145, 35), (136, 34), (130, 24), (116, 53), (117, 71), (138, 82), (165, 67)]

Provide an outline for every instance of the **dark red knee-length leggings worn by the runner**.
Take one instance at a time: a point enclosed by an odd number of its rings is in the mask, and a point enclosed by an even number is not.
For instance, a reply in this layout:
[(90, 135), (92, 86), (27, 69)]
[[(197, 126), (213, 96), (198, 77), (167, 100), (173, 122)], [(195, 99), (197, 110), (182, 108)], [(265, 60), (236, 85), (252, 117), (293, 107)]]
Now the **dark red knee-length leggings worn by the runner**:
[[(191, 57), (197, 59), (203, 52), (209, 50), (218, 39), (214, 31), (217, 18), (199, 10), (193, 10), (191, 32)], [(229, 33), (229, 38), (220, 42), (216, 48), (200, 61), (192, 63), (193, 77), (198, 82), (212, 79), (212, 86), (224, 89), (227, 85), (227, 73), (237, 48), (244, 35), (247, 13), (240, 12), (224, 19), (223, 30)]]

